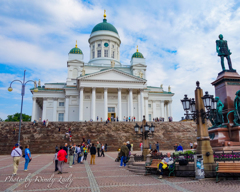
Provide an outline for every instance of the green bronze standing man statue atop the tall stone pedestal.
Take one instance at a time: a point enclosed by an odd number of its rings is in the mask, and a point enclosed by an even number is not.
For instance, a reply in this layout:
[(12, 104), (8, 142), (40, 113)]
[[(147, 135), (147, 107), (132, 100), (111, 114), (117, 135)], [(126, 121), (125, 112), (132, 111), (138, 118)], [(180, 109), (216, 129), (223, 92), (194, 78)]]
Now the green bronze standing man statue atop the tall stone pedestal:
[(221, 57), (221, 65), (222, 65), (222, 70), (225, 71), (225, 66), (224, 66), (224, 57), (227, 58), (228, 61), (228, 66), (230, 71), (235, 71), (232, 68), (232, 62), (230, 55), (232, 54), (230, 50), (228, 49), (227, 41), (223, 40), (223, 35), (220, 34), (219, 36), (220, 40), (216, 40), (216, 50), (218, 53), (218, 56)]

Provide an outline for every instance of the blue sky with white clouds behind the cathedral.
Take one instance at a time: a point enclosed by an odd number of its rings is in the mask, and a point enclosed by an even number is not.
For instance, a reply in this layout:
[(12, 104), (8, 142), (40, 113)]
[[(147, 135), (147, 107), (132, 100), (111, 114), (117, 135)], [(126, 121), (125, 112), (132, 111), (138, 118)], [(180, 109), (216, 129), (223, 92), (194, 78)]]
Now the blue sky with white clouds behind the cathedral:
[[(184, 114), (180, 99), (194, 96), (196, 81), (214, 95), (211, 85), (221, 71), (216, 53), (219, 34), (240, 72), (240, 2), (234, 0), (1, 0), (0, 1), (0, 118), (20, 112), (21, 85), (14, 79), (65, 82), (67, 57), (75, 41), (89, 59), (93, 27), (107, 20), (121, 39), (120, 61), (130, 65), (136, 45), (146, 58), (147, 84), (167, 91), (171, 86), (173, 120)], [(227, 68), (227, 62), (225, 60)], [(29, 83), (23, 113), (32, 113)]]

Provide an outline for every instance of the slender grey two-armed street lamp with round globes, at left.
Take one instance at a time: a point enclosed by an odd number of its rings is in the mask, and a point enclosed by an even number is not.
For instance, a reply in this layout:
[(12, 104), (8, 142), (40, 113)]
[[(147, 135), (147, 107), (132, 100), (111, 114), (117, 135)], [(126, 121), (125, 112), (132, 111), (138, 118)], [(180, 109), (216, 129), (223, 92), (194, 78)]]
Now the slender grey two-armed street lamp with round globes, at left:
[(10, 86), (9, 86), (9, 88), (8, 88), (8, 91), (11, 92), (11, 91), (13, 90), (13, 88), (11, 87), (11, 86), (12, 86), (12, 83), (15, 82), (15, 81), (19, 81), (19, 82), (22, 84), (22, 89), (21, 89), (22, 101), (21, 101), (21, 112), (20, 112), (19, 133), (18, 133), (18, 144), (19, 144), (19, 145), (20, 145), (21, 122), (22, 122), (23, 97), (24, 97), (24, 95), (25, 95), (25, 87), (26, 87), (26, 84), (27, 84), (28, 82), (33, 82), (33, 83), (34, 83), (34, 92), (38, 92), (38, 88), (37, 88), (37, 83), (36, 83), (36, 82), (34, 82), (33, 80), (28, 80), (27, 82), (25, 82), (25, 73), (26, 73), (26, 70), (24, 70), (23, 81), (13, 80), (13, 81), (10, 83)]

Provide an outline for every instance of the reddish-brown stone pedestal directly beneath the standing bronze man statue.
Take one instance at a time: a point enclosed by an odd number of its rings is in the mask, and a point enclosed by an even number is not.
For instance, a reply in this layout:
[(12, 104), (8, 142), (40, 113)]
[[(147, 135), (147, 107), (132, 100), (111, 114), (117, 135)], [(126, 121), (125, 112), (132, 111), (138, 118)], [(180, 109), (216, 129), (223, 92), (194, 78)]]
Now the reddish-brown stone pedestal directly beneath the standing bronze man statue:
[[(235, 93), (240, 90), (240, 75), (237, 72), (222, 71), (218, 74), (217, 79), (212, 82), (212, 85), (215, 87), (215, 96), (219, 97), (224, 104), (223, 117), (224, 122), (227, 123), (227, 113), (234, 110)], [(232, 123), (233, 113), (228, 117)]]

